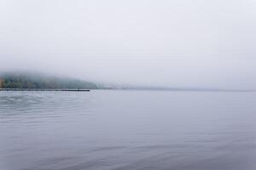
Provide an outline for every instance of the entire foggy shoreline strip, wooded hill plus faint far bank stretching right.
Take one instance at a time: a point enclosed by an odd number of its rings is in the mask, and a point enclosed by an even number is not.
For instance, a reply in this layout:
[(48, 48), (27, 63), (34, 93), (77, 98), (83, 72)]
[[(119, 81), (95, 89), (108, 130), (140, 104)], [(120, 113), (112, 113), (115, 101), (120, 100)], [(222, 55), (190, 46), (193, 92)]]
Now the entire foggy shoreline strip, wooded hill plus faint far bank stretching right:
[(168, 88), (154, 86), (117, 85), (110, 83), (86, 82), (69, 77), (45, 76), (40, 73), (5, 72), (0, 73), (0, 88), (27, 89), (127, 89), (165, 91), (211, 91), (211, 92), (255, 92), (256, 90), (224, 88)]

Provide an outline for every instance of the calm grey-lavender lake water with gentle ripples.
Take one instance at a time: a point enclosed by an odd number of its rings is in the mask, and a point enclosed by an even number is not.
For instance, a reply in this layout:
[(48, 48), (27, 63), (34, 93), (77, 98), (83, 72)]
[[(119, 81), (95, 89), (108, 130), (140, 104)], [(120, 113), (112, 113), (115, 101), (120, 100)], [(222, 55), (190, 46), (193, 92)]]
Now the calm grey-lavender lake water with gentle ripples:
[(256, 169), (256, 93), (0, 92), (0, 169)]

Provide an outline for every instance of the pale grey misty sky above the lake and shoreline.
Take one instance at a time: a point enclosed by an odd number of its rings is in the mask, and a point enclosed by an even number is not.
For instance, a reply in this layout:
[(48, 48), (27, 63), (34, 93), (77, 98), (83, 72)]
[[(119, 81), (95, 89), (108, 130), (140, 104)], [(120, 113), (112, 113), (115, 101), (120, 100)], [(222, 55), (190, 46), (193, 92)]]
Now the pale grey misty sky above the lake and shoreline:
[(0, 70), (256, 89), (255, 0), (1, 0)]

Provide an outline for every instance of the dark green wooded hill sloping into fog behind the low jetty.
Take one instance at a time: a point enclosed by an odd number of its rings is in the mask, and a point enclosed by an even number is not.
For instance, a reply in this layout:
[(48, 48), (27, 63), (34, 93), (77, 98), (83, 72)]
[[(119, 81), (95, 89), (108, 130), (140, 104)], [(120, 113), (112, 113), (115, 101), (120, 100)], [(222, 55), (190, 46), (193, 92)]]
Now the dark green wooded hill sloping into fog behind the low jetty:
[(42, 88), (42, 89), (97, 89), (94, 82), (74, 78), (49, 77), (32, 73), (2, 73), (0, 88)]

